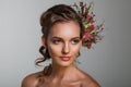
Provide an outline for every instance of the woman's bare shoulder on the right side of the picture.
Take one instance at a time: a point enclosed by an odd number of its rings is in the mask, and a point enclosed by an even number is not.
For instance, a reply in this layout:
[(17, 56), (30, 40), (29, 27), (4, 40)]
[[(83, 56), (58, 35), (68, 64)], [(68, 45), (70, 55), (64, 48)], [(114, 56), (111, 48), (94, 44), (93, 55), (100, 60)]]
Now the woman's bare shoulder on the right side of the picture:
[(100, 85), (88, 74), (82, 72), (82, 87), (100, 87)]

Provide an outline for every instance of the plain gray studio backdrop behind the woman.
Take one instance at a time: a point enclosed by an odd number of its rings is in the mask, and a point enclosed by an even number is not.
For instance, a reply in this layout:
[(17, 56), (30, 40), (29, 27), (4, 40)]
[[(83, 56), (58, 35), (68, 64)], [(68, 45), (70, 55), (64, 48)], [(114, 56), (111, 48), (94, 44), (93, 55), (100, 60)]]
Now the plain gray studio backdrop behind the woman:
[[(80, 0), (0, 0), (0, 87), (20, 87), (23, 77), (43, 70), (39, 16), (56, 3)], [(83, 0), (91, 2), (91, 0)], [(94, 0), (97, 23), (105, 21), (105, 38), (94, 49), (82, 48), (79, 66), (102, 87), (131, 87), (131, 0)]]

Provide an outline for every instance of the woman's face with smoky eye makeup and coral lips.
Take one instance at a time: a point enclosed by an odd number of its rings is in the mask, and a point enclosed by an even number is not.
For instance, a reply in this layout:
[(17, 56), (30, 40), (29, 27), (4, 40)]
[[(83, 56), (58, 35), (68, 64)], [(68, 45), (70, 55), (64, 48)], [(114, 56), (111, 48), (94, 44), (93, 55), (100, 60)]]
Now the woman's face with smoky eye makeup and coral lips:
[(55, 24), (47, 38), (52, 63), (60, 66), (71, 65), (79, 55), (81, 46), (80, 26), (73, 21)]

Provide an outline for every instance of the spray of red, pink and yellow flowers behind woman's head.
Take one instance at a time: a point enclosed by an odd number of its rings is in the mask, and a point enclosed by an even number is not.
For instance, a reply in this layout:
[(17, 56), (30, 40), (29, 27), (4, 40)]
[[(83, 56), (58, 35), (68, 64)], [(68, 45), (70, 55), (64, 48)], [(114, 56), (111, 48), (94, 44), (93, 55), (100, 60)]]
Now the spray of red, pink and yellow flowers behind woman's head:
[(80, 5), (74, 3), (72, 7), (81, 16), (84, 25), (84, 33), (82, 38), (83, 46), (91, 49), (92, 44), (96, 44), (103, 38), (103, 36), (100, 36), (99, 33), (104, 29), (104, 23), (102, 23), (100, 25), (94, 24), (95, 14), (93, 13), (93, 2), (91, 2), (88, 7), (86, 7), (86, 3), (84, 4), (83, 2), (80, 2)]

